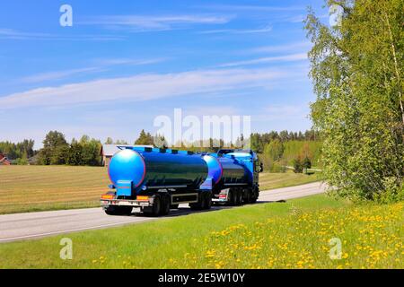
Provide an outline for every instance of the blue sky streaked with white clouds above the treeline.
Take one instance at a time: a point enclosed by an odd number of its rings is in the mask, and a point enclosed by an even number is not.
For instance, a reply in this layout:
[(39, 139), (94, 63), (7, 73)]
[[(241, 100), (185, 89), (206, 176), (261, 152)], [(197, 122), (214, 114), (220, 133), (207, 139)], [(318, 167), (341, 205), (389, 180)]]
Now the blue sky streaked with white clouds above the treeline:
[[(73, 27), (62, 27), (62, 4)], [(49, 130), (130, 143), (154, 117), (250, 115), (304, 130), (307, 1), (7, 1), (0, 7), (0, 141)]]

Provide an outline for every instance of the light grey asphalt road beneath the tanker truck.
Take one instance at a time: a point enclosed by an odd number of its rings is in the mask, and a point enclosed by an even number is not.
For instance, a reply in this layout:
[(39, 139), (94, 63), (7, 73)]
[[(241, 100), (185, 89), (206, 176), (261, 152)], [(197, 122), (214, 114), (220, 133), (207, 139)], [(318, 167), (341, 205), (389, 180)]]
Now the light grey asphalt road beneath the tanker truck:
[[(324, 188), (324, 185), (315, 182), (303, 186), (261, 191), (259, 202), (276, 202), (290, 198), (311, 196), (324, 192)], [(213, 206), (211, 210), (205, 212), (214, 212), (215, 210), (224, 208), (234, 207)], [(188, 204), (181, 204), (178, 210), (171, 210), (168, 216), (181, 216), (189, 213), (197, 212), (191, 211)], [(161, 220), (162, 218), (164, 217), (145, 217), (141, 213), (136, 213), (136, 209), (134, 209), (134, 213), (131, 216), (110, 216), (105, 214), (101, 207), (40, 213), (5, 214), (0, 215), (0, 242), (36, 239), (80, 230), (93, 230), (130, 223), (149, 222)]]

